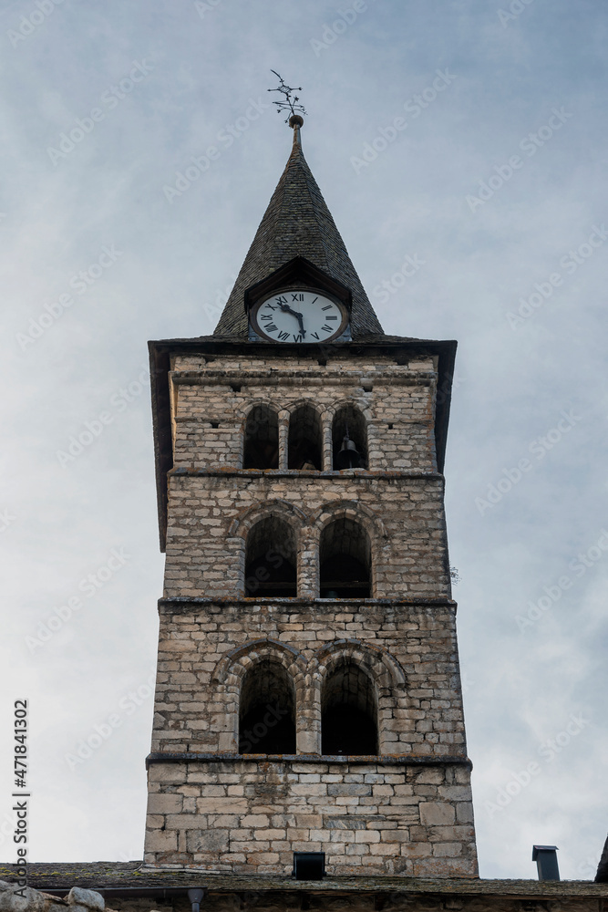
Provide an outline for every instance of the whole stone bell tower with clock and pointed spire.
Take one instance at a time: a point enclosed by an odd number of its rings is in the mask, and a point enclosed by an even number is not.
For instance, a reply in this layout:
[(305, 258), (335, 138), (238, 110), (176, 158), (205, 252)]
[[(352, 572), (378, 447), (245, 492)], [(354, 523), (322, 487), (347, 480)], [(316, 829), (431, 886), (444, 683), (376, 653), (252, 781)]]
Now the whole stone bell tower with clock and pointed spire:
[(443, 505), (456, 343), (385, 335), (302, 124), (213, 335), (149, 344), (166, 570), (145, 861), (475, 877)]

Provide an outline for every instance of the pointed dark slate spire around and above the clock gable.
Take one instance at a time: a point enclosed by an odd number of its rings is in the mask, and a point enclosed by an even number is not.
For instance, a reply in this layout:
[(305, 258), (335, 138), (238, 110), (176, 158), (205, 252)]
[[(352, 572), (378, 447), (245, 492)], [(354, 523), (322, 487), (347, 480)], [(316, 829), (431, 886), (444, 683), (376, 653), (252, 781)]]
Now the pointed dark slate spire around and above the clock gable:
[(302, 118), (297, 116), (290, 120), (294, 128), (292, 153), (264, 212), (220, 322), (215, 327), (213, 335), (216, 337), (247, 338), (247, 315), (243, 305), (245, 290), (296, 256), (304, 257), (350, 288), (354, 339), (377, 336), (383, 332), (331, 212), (304, 159), (300, 140), (302, 123)]

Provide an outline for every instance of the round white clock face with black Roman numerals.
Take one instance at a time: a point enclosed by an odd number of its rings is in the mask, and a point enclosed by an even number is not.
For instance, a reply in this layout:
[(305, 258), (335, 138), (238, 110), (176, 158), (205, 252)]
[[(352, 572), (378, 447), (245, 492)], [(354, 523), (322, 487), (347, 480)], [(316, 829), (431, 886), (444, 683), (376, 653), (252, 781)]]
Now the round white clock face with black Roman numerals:
[(345, 307), (333, 298), (300, 289), (278, 292), (252, 311), (252, 326), (272, 342), (329, 342), (348, 322)]

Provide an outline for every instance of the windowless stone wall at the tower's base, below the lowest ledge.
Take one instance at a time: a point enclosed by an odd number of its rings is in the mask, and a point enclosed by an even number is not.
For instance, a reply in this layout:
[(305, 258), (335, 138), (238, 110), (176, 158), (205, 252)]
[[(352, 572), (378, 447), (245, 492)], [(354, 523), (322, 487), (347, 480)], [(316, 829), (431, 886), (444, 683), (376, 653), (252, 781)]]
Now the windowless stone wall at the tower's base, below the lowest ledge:
[(154, 763), (144, 860), (289, 874), (477, 876), (469, 768), (382, 762)]

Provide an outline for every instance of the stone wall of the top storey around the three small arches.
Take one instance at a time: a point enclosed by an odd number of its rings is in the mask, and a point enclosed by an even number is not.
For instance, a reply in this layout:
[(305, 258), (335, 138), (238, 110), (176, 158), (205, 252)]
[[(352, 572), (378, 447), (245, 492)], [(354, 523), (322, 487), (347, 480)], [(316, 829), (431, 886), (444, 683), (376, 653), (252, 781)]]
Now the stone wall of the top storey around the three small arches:
[[(171, 373), (176, 466), (241, 468), (247, 413), (260, 403), (279, 413), (286, 440), (290, 412), (308, 402), (324, 433), (324, 466), (332, 468), (331, 422), (336, 409), (356, 405), (366, 416), (370, 470), (436, 468), (433, 361), (400, 366), (390, 359), (349, 358), (326, 367), (309, 358), (241, 358), (206, 363), (174, 358)], [(286, 467), (286, 446), (282, 446)]]

